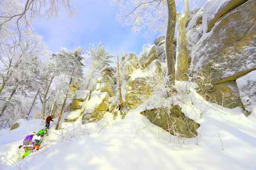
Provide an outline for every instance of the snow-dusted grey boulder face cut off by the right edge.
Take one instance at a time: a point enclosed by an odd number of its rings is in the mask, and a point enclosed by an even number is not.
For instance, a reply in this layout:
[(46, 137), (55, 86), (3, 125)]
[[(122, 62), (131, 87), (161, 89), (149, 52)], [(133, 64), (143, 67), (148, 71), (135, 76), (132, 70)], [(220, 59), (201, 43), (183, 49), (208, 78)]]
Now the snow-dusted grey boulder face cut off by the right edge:
[(243, 103), (247, 115), (249, 115), (256, 107), (256, 70), (238, 77), (236, 82), (241, 102)]

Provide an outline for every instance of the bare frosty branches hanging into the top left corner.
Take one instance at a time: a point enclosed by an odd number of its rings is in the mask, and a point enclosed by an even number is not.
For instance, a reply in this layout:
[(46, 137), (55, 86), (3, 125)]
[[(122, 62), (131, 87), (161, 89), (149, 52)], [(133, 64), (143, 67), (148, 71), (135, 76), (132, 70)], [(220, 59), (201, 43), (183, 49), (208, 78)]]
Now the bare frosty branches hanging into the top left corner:
[(0, 0), (0, 39), (16, 34), (21, 38), (24, 30), (33, 30), (37, 18), (58, 17), (58, 10), (64, 7), (69, 16), (76, 13), (71, 0)]

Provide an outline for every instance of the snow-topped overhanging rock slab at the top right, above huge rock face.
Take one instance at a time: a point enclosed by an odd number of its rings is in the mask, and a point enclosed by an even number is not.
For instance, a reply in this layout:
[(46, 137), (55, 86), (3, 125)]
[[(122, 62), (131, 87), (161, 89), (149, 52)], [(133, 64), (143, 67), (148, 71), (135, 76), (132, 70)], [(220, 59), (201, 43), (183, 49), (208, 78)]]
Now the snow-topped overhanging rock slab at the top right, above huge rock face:
[[(208, 33), (216, 21), (229, 10), (238, 7), (247, 0), (208, 0), (203, 6), (203, 34)], [(255, 1), (255, 0), (252, 0)], [(250, 6), (255, 10), (255, 6)], [(252, 11), (252, 14), (255, 13)]]

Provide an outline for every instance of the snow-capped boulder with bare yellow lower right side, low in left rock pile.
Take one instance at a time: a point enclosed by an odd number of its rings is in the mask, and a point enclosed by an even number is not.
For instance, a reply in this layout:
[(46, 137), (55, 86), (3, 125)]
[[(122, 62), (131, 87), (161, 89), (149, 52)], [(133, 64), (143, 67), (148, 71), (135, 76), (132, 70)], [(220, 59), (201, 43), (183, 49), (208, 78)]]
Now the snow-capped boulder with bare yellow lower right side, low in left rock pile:
[(105, 111), (108, 110), (109, 98), (110, 95), (108, 92), (100, 92), (95, 90), (91, 93), (91, 98), (87, 102), (87, 105), (94, 109)]

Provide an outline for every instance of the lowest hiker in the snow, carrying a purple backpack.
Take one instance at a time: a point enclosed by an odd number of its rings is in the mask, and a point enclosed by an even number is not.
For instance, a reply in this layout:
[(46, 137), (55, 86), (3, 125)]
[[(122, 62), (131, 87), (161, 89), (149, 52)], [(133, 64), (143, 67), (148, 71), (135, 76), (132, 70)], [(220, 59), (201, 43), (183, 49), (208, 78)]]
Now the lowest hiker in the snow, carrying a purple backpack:
[(32, 132), (31, 134), (27, 135), (25, 137), (25, 139), (23, 140), (22, 144), (18, 146), (18, 149), (20, 149), (22, 146), (25, 149), (25, 153), (22, 155), (22, 159), (30, 154), (29, 151), (32, 150), (33, 145), (34, 145), (36, 139), (40, 140), (41, 136), (37, 136), (36, 132)]

